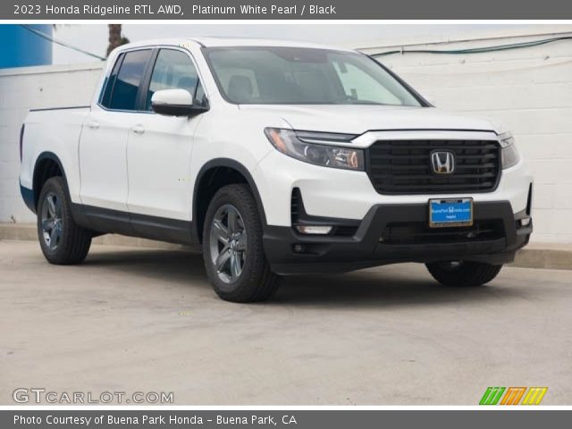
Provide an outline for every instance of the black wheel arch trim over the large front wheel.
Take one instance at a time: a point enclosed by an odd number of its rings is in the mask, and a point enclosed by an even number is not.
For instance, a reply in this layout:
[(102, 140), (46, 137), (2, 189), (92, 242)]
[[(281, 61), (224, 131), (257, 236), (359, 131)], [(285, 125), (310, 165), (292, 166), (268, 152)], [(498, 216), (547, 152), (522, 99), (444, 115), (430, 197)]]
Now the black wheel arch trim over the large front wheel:
[(246, 183), (257, 202), (258, 214), (263, 225), (266, 225), (265, 208), (258, 192), (257, 184), (248, 168), (230, 158), (214, 158), (204, 164), (198, 172), (192, 200), (193, 235), (202, 242), (203, 224), (206, 209), (214, 193), (223, 186), (232, 183)]

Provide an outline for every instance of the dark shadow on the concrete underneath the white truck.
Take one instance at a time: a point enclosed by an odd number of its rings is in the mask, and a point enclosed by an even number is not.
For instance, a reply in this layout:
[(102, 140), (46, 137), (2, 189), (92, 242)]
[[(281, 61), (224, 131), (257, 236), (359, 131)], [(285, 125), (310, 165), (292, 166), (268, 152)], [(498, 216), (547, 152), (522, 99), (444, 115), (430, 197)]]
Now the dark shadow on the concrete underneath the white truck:
[[(87, 266), (117, 269), (142, 279), (167, 281), (189, 290), (211, 286), (200, 254), (181, 250), (129, 249), (90, 254)], [(161, 283), (158, 283), (161, 284)], [(148, 287), (148, 286), (147, 286)], [(157, 286), (158, 287), (158, 286)], [(423, 265), (386, 265), (353, 273), (283, 277), (275, 297), (257, 306), (391, 307), (456, 301), (486, 301), (525, 291), (502, 272), (490, 286), (450, 288), (433, 281)], [(213, 299), (217, 299), (213, 292)]]

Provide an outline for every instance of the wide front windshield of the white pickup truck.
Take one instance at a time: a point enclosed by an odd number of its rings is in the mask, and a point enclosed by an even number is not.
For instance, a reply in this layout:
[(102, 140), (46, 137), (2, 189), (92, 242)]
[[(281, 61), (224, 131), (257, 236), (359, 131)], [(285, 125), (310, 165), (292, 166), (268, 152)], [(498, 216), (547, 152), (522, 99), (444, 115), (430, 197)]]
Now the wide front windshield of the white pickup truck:
[(204, 52), (223, 97), (234, 104), (421, 105), (366, 55), (266, 46)]

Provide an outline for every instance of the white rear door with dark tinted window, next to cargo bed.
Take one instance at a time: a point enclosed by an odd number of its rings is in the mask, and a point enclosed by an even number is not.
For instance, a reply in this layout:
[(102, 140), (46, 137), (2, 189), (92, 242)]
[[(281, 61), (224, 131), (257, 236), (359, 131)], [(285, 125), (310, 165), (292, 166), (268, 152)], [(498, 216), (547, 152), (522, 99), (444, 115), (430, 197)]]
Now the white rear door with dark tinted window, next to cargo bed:
[(80, 198), (86, 206), (127, 213), (127, 140), (137, 122), (139, 92), (151, 49), (117, 57), (80, 137)]

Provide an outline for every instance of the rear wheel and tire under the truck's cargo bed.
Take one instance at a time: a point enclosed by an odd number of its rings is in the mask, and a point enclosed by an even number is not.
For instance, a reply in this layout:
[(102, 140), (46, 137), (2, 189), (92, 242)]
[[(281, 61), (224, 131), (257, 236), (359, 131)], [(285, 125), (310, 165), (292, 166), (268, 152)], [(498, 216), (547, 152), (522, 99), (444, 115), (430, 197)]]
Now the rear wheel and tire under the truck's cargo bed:
[(88, 256), (91, 232), (74, 222), (62, 177), (48, 179), (39, 194), (38, 240), (50, 264), (78, 264)]

